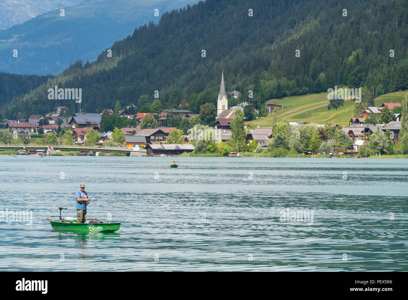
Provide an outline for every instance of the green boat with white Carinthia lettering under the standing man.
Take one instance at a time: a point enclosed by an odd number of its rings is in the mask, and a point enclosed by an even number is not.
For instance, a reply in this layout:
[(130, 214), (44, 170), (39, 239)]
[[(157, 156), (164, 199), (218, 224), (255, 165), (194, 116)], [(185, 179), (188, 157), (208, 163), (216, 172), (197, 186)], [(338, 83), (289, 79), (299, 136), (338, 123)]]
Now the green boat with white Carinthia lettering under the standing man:
[(120, 228), (119, 222), (77, 223), (77, 220), (51, 220), (52, 229), (73, 232), (115, 232)]

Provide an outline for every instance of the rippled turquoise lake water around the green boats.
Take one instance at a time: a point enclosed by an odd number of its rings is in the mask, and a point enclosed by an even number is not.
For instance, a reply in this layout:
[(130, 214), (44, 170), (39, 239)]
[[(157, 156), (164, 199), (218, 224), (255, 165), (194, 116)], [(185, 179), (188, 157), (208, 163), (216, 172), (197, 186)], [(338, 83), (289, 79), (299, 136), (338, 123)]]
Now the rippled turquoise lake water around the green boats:
[[(1, 155), (0, 182), (32, 212), (0, 222), (1, 271), (408, 271), (404, 159)], [(80, 183), (120, 230), (52, 230)]]

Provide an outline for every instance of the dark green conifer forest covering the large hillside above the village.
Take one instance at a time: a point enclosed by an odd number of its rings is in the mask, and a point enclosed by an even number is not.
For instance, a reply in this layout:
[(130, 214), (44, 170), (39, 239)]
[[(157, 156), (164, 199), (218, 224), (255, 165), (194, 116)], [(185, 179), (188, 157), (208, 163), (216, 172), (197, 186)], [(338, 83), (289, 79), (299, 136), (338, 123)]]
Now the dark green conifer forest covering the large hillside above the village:
[[(7, 101), (1, 113), (15, 119), (19, 112), (27, 117), (58, 105), (73, 110), (73, 100), (47, 98), (55, 85), (82, 88), (83, 110), (89, 113), (113, 109), (118, 101), (146, 108), (155, 90), (162, 108), (185, 99), (198, 113), (202, 104), (216, 103), (222, 70), (228, 91), (242, 93), (229, 106), (250, 101), (260, 108), (267, 99), (335, 85), (367, 87), (377, 96), (404, 90), (407, 7), (407, 0), (206, 0), (164, 13), (159, 24), (141, 26), (115, 42), (112, 57), (104, 51), (92, 63), (77, 61), (55, 78), (36, 82), (26, 95), (9, 101), (0, 84), (0, 97)], [(248, 90), (254, 92), (251, 99)]]

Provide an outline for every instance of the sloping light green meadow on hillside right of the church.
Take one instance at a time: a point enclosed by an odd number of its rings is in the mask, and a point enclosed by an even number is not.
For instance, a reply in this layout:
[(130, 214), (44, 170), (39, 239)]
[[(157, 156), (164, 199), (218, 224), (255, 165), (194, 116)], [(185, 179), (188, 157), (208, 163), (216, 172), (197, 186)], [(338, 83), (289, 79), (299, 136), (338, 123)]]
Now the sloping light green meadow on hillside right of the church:
[[(380, 106), (383, 102), (399, 102), (402, 104), (404, 95), (407, 90), (402, 92), (390, 93), (382, 95), (375, 99), (375, 104)], [(348, 122), (353, 117), (355, 101), (344, 100), (344, 106), (337, 110), (328, 110), (327, 92), (318, 94), (308, 94), (301, 96), (290, 96), (282, 99), (271, 99), (266, 103), (280, 104), (290, 106), (279, 110), (277, 113), (278, 119), (288, 122), (304, 121), (308, 123), (326, 124), (338, 123), (340, 125), (348, 125)], [(258, 118), (250, 122), (246, 122), (249, 128), (271, 127), (272, 115)]]

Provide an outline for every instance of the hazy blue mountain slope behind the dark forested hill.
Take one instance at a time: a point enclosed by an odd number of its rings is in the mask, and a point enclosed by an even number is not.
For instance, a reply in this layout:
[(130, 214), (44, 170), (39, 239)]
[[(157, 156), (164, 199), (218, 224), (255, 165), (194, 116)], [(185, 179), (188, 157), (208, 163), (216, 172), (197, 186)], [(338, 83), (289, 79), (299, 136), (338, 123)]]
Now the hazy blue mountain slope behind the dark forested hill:
[[(28, 5), (28, 2), (37, 1), (14, 2), (27, 2)], [(75, 0), (38, 2), (49, 2), (51, 5), (52, 2)], [(158, 22), (165, 11), (195, 2), (197, 0), (86, 0), (66, 7), (64, 16), (60, 15), (62, 4), (57, 5), (57, 10), (0, 30), (0, 71), (57, 74), (75, 60), (95, 60), (101, 51), (131, 35), (137, 26), (150, 20)], [(18, 6), (23, 7), (23, 4)], [(155, 9), (158, 9), (157, 16)], [(14, 50), (17, 50), (17, 57), (13, 57)]]

